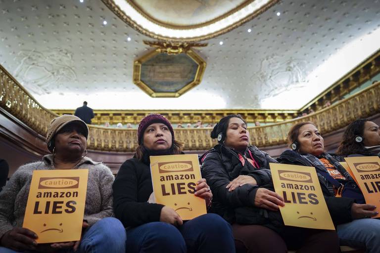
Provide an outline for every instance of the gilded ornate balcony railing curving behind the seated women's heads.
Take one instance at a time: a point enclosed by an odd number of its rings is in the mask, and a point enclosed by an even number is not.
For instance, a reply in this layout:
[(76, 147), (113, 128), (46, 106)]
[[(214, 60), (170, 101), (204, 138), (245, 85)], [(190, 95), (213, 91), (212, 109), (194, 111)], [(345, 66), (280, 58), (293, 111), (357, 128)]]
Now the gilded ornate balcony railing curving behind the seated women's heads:
[[(289, 128), (298, 122), (312, 121), (322, 133), (347, 126), (358, 118), (380, 112), (380, 82), (349, 98), (316, 113), (262, 127), (248, 127), (250, 142), (259, 146), (284, 144)], [(0, 66), (0, 107), (27, 126), (45, 136), (50, 121), (57, 114), (41, 106), (8, 72)], [(132, 152), (136, 149), (137, 130), (89, 126), (88, 149)], [(176, 128), (176, 139), (185, 143), (185, 150), (206, 150), (216, 144), (211, 128)]]

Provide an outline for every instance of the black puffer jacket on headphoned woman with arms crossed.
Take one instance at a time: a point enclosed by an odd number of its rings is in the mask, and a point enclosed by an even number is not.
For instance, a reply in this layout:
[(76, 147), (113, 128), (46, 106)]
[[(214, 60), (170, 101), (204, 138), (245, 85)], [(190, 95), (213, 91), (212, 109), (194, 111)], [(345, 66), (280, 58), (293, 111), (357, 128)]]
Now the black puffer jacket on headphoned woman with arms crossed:
[[(249, 152), (260, 168), (254, 168), (247, 161), (246, 157), (250, 157)], [(278, 162), (255, 146), (249, 146), (242, 159), (244, 164), (239, 160), (238, 152), (220, 144), (201, 156), (202, 177), (206, 178), (213, 193), (211, 211), (218, 213), (230, 223), (237, 222), (236, 215), (239, 215), (241, 218), (247, 217), (247, 220), (238, 223), (263, 225), (271, 223), (271, 228), (281, 226), (283, 221), (279, 211), (271, 212), (254, 207), (254, 199), (259, 187), (274, 191), (269, 163)], [(230, 192), (226, 186), (238, 175), (252, 176), (257, 181), (257, 185), (245, 184)]]

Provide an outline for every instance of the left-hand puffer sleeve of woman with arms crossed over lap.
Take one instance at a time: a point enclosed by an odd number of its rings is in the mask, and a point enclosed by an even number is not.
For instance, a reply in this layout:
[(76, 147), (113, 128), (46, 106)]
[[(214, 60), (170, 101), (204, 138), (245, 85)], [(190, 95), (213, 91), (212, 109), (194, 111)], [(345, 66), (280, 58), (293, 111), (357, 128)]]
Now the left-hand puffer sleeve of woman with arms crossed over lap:
[(232, 192), (228, 191), (226, 186), (230, 183), (230, 178), (217, 152), (206, 155), (201, 172), (218, 202), (233, 208), (254, 205), (258, 186), (245, 184)]

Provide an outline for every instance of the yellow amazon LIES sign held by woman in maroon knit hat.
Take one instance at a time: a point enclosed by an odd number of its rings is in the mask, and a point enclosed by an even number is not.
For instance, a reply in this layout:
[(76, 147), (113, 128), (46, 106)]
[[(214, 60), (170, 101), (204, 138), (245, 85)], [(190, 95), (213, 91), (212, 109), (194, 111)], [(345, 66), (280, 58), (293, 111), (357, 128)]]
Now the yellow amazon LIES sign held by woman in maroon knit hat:
[(155, 202), (174, 209), (183, 220), (206, 213), (205, 200), (194, 195), (196, 182), (201, 179), (198, 156), (151, 156)]

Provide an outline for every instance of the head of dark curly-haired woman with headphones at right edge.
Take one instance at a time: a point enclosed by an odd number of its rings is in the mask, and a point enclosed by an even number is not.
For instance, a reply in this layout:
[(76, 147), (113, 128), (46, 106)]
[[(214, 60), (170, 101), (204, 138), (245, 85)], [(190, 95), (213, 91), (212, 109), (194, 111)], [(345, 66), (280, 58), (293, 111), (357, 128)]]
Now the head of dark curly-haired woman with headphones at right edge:
[(379, 156), (380, 129), (367, 119), (352, 122), (343, 133), (343, 139), (336, 152), (340, 156)]

